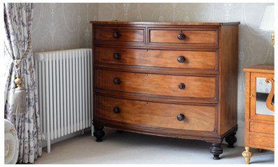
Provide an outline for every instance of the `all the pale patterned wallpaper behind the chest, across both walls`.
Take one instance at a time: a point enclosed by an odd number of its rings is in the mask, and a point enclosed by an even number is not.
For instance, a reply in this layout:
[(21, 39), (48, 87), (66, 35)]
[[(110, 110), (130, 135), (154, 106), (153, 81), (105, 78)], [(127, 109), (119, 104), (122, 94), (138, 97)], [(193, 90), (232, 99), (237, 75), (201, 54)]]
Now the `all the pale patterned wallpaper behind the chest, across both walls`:
[(259, 30), (267, 3), (35, 3), (33, 51), (90, 48), (91, 20), (240, 21), (238, 120), (244, 121), (244, 67), (274, 64), (270, 32)]

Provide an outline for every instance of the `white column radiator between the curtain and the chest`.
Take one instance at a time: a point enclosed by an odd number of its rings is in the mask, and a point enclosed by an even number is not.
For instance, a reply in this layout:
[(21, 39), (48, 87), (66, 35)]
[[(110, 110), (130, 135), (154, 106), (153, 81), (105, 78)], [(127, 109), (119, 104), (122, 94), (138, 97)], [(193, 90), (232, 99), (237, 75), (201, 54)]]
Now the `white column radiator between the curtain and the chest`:
[(51, 140), (91, 126), (91, 49), (35, 53), (42, 138)]

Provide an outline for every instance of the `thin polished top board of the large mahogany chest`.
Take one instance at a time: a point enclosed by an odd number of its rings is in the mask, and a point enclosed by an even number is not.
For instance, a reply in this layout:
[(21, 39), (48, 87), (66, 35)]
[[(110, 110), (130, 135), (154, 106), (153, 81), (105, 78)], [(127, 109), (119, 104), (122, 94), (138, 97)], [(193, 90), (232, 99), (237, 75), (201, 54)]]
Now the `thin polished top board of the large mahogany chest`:
[(150, 22), (150, 21), (90, 21), (90, 24), (122, 24), (122, 25), (179, 25), (179, 26), (229, 26), (238, 25), (240, 21), (236, 22)]

